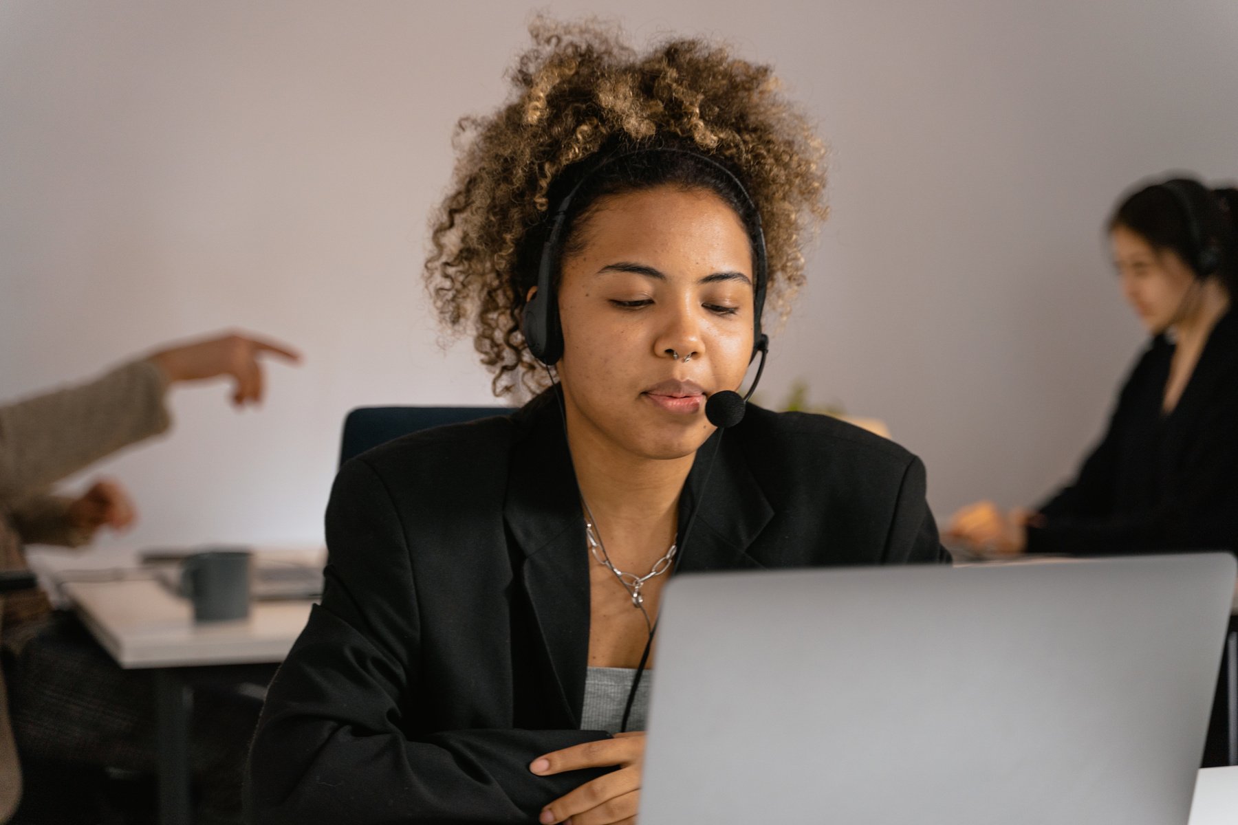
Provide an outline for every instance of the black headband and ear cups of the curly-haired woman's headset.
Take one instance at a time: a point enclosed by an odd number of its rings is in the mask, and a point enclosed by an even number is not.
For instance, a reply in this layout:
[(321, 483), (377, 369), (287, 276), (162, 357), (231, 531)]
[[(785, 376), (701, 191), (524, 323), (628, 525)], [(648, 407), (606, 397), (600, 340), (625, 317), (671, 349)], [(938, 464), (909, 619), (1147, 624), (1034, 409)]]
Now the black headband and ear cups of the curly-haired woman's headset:
[(586, 172), (579, 181), (577, 181), (576, 186), (573, 186), (571, 192), (567, 193), (567, 197), (565, 197), (555, 209), (553, 216), (551, 218), (552, 223), (550, 234), (546, 236), (546, 242), (542, 244), (541, 261), (537, 265), (537, 292), (534, 293), (532, 299), (525, 304), (524, 317), (520, 323), (520, 331), (525, 336), (529, 351), (546, 366), (553, 366), (561, 357), (563, 357), (563, 328), (558, 319), (558, 298), (555, 294), (555, 282), (558, 276), (560, 257), (562, 255), (561, 246), (563, 242), (563, 224), (567, 223), (567, 212), (572, 205), (572, 198), (576, 197), (576, 193), (579, 192), (581, 187), (593, 178), (600, 169), (625, 158), (644, 155), (646, 152), (680, 152), (682, 155), (691, 155), (692, 157), (704, 161), (717, 171), (722, 172), (722, 174), (734, 184), (735, 190), (743, 195), (743, 199), (753, 215), (750, 237), (753, 245), (753, 257), (756, 260), (756, 283), (753, 287), (753, 357), (756, 357), (758, 353), (764, 353), (769, 348), (769, 338), (761, 333), (761, 310), (765, 307), (765, 286), (768, 281), (765, 234), (761, 231), (761, 214), (756, 209), (756, 204), (753, 202), (751, 195), (748, 194), (748, 189), (745, 189), (744, 184), (739, 182), (739, 178), (735, 177), (734, 172), (707, 155), (670, 146), (646, 147), (633, 152), (623, 152), (603, 160), (600, 163)]

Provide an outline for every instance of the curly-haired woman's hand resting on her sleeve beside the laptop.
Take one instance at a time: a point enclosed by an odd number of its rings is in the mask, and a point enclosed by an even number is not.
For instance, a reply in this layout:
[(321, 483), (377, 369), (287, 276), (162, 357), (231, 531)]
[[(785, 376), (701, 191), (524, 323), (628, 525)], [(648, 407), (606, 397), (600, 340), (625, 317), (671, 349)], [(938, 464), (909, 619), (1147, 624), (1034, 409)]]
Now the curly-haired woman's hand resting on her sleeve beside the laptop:
[(542, 809), (537, 821), (572, 825), (631, 825), (640, 799), (640, 771), (645, 758), (645, 733), (615, 733), (614, 738), (586, 742), (534, 759), (529, 769), (546, 777), (581, 768), (619, 766), (604, 777), (586, 782)]

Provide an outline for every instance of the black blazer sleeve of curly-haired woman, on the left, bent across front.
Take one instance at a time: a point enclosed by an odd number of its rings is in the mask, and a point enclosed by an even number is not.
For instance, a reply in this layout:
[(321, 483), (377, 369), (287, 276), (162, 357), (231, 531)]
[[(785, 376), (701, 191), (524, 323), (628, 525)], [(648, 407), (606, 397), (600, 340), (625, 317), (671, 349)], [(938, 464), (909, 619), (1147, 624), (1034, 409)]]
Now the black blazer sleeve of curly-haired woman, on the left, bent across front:
[(280, 668), (250, 751), (246, 809), (258, 824), (532, 823), (608, 769), (537, 777), (534, 758), (598, 731), (418, 733), (421, 616), (406, 532), (378, 474), (344, 465), (327, 508), (321, 606)]

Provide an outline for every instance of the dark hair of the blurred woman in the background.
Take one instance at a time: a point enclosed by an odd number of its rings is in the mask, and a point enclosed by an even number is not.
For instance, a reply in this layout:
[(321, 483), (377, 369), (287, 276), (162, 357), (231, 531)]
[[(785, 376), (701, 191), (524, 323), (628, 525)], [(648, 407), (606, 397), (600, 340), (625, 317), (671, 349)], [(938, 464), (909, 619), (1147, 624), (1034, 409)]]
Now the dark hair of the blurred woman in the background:
[(1238, 189), (1210, 189), (1190, 177), (1145, 183), (1118, 203), (1108, 228), (1118, 226), (1175, 252), (1197, 276), (1201, 252), (1214, 249), (1216, 276), (1238, 298)]

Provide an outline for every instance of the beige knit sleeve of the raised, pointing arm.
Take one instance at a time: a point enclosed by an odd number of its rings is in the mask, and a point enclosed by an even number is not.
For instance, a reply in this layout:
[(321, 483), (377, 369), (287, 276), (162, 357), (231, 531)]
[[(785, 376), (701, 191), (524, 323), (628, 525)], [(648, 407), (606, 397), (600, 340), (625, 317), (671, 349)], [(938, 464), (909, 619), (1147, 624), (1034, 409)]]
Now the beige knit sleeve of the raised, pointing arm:
[(134, 442), (165, 432), (166, 378), (134, 361), (100, 378), (0, 406), (0, 503), (36, 495)]

